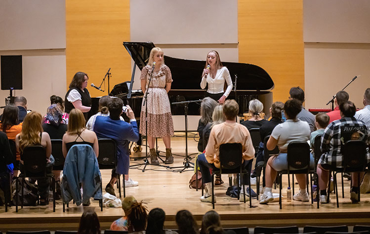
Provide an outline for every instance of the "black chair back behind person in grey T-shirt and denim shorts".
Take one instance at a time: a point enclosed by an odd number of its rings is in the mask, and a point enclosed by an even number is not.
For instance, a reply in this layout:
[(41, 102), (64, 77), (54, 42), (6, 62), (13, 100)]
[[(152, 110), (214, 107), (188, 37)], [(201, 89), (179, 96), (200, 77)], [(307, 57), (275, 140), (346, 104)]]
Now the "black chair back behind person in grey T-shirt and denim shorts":
[(309, 169), (310, 146), (307, 142), (290, 142), (288, 145), (288, 171), (289, 167), (296, 170)]

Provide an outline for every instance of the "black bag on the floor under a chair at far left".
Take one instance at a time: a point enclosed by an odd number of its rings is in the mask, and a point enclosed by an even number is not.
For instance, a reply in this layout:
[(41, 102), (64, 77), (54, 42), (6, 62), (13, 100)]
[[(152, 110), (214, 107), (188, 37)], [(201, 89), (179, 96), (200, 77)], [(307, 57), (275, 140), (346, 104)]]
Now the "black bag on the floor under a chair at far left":
[[(22, 203), (22, 179), (18, 180), (18, 205)], [(14, 180), (12, 187), (13, 187), (13, 204), (15, 205), (16, 203), (16, 194), (15, 194), (15, 189), (16, 189), (16, 183), (17, 181)], [(24, 206), (35, 206), (37, 203), (37, 200), (39, 199), (38, 195), (38, 188), (36, 185), (30, 183), (28, 180), (24, 180), (24, 188), (23, 188), (23, 205)]]

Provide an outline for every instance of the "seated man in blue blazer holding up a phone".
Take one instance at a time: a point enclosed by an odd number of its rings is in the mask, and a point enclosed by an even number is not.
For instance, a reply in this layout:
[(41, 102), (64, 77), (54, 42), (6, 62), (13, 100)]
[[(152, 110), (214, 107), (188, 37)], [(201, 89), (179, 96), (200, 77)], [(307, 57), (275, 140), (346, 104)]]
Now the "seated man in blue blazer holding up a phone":
[(117, 146), (117, 166), (112, 170), (111, 181), (105, 187), (105, 191), (115, 195), (114, 184), (118, 177), (124, 175), (125, 187), (138, 186), (139, 183), (128, 177), (130, 166), (130, 153), (128, 144), (130, 141), (136, 142), (139, 139), (139, 130), (133, 111), (127, 106), (126, 115), (130, 119), (127, 123), (120, 119), (123, 114), (123, 101), (121, 98), (113, 98), (108, 104), (110, 116), (98, 116), (95, 119), (94, 132), (99, 138), (110, 138), (116, 142)]

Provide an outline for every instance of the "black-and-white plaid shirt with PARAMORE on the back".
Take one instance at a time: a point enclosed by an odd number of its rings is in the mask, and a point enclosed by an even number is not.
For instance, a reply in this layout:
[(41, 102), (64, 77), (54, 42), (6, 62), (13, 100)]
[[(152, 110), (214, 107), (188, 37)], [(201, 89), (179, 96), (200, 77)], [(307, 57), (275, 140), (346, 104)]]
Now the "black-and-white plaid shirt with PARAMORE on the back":
[[(335, 167), (343, 167), (342, 147), (349, 140), (369, 141), (369, 130), (366, 124), (354, 117), (343, 117), (331, 122), (321, 137), (321, 150), (323, 155), (319, 164), (329, 164)], [(367, 162), (370, 162), (369, 149), (366, 154)]]

